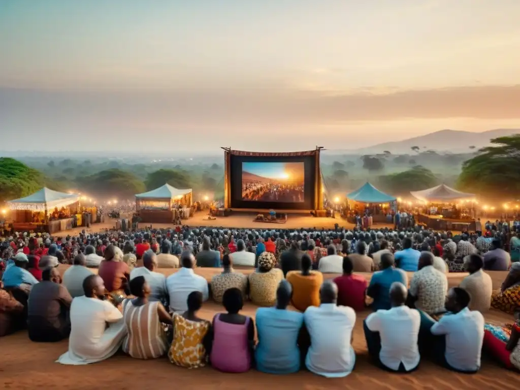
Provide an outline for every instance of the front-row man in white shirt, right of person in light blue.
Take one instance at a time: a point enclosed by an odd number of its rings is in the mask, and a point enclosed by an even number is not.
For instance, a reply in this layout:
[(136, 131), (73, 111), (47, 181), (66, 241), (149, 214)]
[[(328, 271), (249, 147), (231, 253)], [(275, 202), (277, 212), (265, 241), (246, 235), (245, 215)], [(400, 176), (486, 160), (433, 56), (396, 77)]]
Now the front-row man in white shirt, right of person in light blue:
[(356, 313), (351, 307), (336, 306), (337, 286), (331, 280), (321, 285), (320, 300), (319, 307), (310, 306), (304, 313), (310, 335), (305, 366), (326, 378), (342, 378), (356, 362), (351, 345)]

